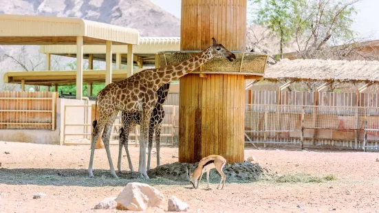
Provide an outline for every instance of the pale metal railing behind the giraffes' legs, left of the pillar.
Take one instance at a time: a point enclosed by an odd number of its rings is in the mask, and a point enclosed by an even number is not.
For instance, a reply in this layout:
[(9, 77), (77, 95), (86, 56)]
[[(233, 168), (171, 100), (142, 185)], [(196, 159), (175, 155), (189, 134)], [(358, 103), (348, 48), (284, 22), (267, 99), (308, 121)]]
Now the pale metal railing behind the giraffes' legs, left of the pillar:
[[(82, 109), (91, 109), (92, 105), (91, 104), (85, 104), (85, 105), (70, 105), (66, 104), (64, 106), (64, 120), (63, 120), (63, 142), (61, 142), (61, 145), (78, 145), (78, 144), (89, 144), (89, 141), (91, 139), (91, 123), (93, 119), (85, 120), (83, 119), (83, 122), (76, 122), (76, 123), (69, 123), (67, 122), (67, 118), (71, 115), (67, 111), (67, 109), (70, 108), (82, 108)], [(162, 142), (164, 145), (171, 144), (173, 145), (174, 143), (174, 137), (175, 137), (175, 128), (177, 126), (175, 125), (175, 120), (177, 117), (177, 111), (178, 108), (175, 105), (164, 105), (164, 111), (165, 111), (165, 117), (162, 123), (162, 131), (160, 136), (161, 137), (168, 137), (170, 138), (166, 140), (166, 143)], [(112, 132), (111, 132), (111, 142), (110, 144), (118, 144), (118, 142), (114, 142), (114, 140), (118, 140), (119, 137), (119, 130), (121, 125), (121, 119), (120, 116), (121, 112), (118, 114), (116, 117), (115, 122), (113, 123), (112, 126)], [(84, 116), (85, 117), (85, 116)], [(91, 117), (91, 116), (89, 116)], [(67, 127), (70, 126), (78, 126), (80, 129), (75, 128), (75, 129), (67, 129)], [(83, 136), (78, 139), (74, 139), (74, 142), (69, 142), (67, 140), (67, 136)], [(155, 134), (154, 134), (155, 136)], [(139, 126), (136, 126), (135, 131), (131, 132), (129, 134), (129, 137), (134, 137), (134, 140), (129, 139), (129, 144), (139, 144), (138, 137), (140, 137), (140, 128)], [(83, 140), (84, 139), (84, 140)], [(85, 140), (87, 139), (87, 140)], [(83, 142), (84, 141), (84, 142)], [(155, 144), (155, 141), (153, 141), (153, 144)]]

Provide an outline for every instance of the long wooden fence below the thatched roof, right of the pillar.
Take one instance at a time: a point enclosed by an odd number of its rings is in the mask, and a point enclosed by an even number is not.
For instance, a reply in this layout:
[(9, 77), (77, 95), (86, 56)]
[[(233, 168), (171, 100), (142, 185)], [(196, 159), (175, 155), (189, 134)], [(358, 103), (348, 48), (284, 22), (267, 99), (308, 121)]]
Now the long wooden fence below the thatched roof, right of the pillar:
[(246, 143), (378, 149), (379, 107), (246, 104)]

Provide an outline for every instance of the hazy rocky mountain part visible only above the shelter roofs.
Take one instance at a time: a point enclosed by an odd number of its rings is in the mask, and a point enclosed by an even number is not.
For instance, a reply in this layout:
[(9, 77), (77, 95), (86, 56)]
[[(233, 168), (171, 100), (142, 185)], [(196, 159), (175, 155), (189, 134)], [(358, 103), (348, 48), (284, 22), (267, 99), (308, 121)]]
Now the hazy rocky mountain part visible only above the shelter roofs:
[(0, 13), (78, 17), (131, 27), (140, 36), (180, 36), (180, 20), (149, 0), (0, 0)]

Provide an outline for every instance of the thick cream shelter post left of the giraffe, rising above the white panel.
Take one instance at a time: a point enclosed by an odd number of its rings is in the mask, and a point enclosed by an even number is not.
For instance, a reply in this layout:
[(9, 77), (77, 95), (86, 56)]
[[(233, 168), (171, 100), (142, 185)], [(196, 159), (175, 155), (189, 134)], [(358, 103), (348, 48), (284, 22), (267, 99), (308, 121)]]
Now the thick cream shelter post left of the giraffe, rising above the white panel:
[(83, 98), (83, 36), (76, 37), (76, 99)]

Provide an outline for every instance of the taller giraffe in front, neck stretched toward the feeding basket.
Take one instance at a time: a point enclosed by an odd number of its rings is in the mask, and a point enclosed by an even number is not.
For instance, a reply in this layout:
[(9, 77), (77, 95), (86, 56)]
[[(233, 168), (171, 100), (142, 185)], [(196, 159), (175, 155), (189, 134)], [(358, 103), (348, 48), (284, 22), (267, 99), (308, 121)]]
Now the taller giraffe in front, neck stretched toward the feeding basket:
[(232, 54), (232, 52), (223, 45), (217, 43), (215, 38), (212, 39), (213, 43), (208, 48), (188, 60), (166, 67), (144, 69), (129, 78), (112, 82), (99, 91), (95, 100), (96, 108), (97, 105), (99, 107), (99, 120), (94, 120), (92, 123), (94, 130), (91, 134), (91, 155), (88, 166), (89, 177), (94, 177), (95, 145), (101, 131), (104, 130), (102, 132), (102, 142), (104, 142), (111, 175), (118, 178), (111, 159), (109, 139), (111, 136), (111, 128), (114, 120), (116, 120), (118, 111), (122, 111), (126, 113), (139, 112), (141, 114), (141, 142), (138, 172), (140, 173), (140, 178), (149, 179), (146, 167), (146, 146), (151, 113), (158, 100), (157, 91), (160, 87), (172, 80), (177, 80), (191, 73), (191, 71), (206, 63), (210, 58), (225, 57), (230, 61), (232, 61), (232, 58), (235, 58), (235, 54)]

